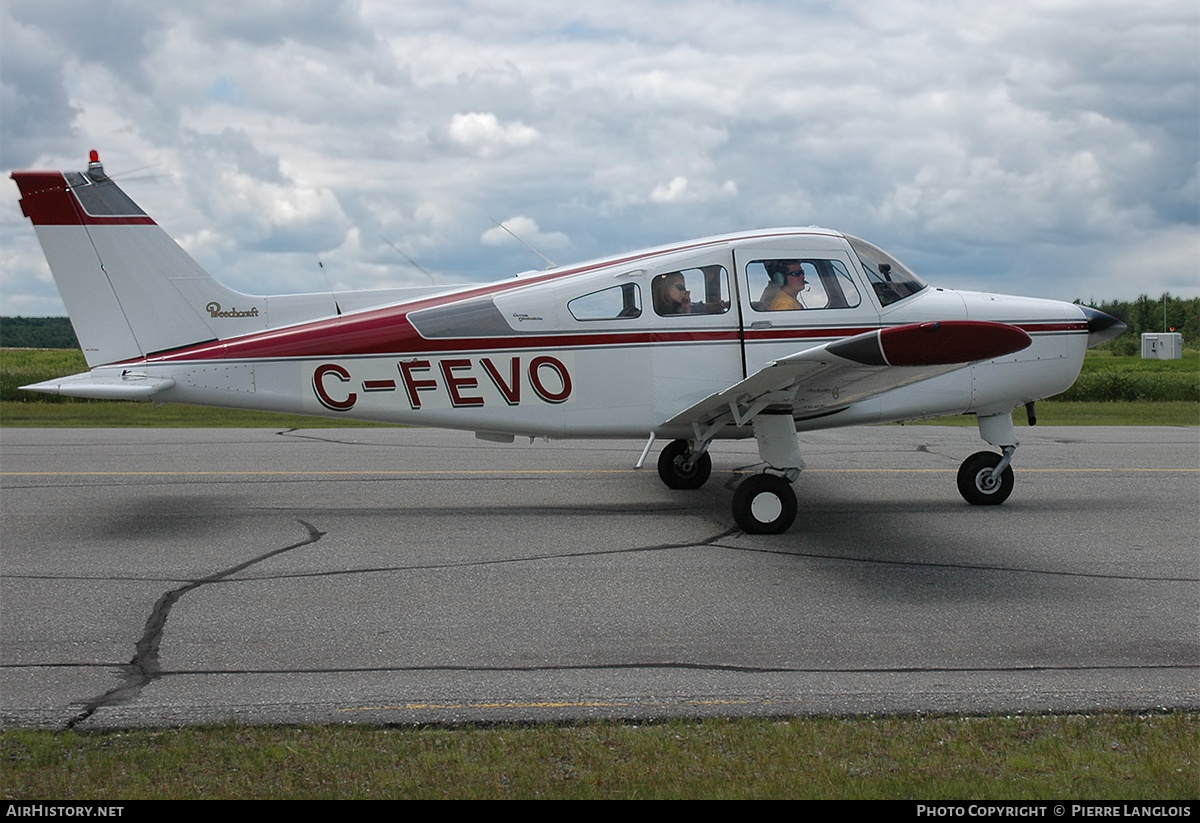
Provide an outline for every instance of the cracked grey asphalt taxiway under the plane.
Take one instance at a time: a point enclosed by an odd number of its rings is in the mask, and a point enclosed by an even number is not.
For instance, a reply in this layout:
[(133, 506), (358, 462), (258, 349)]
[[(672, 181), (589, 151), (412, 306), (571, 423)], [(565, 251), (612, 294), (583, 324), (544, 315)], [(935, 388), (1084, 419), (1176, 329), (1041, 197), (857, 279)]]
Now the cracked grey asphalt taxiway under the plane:
[(0, 429), (0, 725), (1200, 707), (1198, 429), (1019, 435), (977, 507), (973, 428), (806, 433), (750, 536), (752, 441)]

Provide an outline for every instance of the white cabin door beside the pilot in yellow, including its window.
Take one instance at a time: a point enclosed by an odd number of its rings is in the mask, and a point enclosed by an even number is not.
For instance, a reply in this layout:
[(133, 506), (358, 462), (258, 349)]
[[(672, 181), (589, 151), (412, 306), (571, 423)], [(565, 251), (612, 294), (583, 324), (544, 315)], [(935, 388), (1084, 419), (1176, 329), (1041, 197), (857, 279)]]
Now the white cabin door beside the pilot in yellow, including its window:
[(746, 370), (880, 328), (880, 316), (844, 250), (734, 251)]

